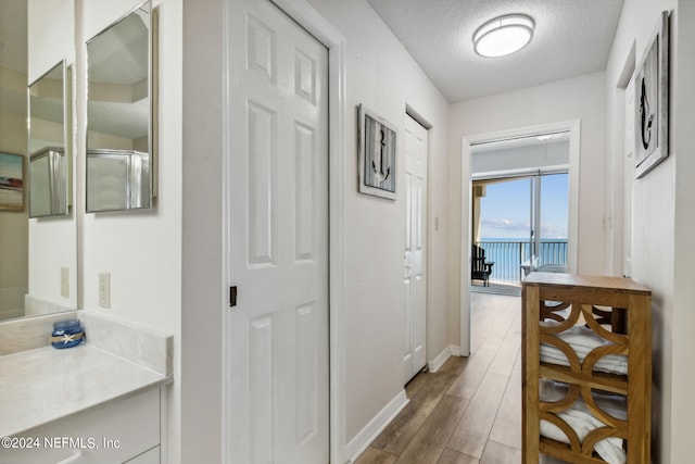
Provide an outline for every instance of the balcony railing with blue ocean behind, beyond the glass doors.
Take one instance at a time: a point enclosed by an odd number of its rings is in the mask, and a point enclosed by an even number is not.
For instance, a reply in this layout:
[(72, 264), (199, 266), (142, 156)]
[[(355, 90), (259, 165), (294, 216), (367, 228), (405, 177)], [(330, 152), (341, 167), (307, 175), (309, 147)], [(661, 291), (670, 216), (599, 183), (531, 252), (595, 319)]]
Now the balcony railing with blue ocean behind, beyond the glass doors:
[[(531, 259), (529, 240), (482, 240), (476, 244), (485, 250), (485, 261), (494, 261), (491, 281), (518, 284), (521, 281), (521, 264)], [(567, 240), (541, 240), (538, 265), (567, 265)]]

